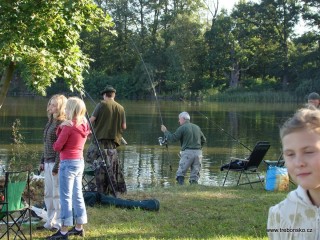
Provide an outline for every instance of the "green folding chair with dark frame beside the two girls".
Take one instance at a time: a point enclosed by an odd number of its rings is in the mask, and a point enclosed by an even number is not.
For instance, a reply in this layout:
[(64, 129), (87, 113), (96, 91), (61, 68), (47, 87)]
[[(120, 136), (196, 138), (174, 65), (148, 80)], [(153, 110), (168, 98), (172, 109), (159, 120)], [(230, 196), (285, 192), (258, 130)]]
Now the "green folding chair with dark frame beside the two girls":
[[(27, 239), (23, 232), (23, 223), (28, 224), (30, 239), (32, 239), (29, 183), (29, 171), (5, 172), (4, 187), (0, 190), (3, 196), (0, 199), (0, 224), (5, 227), (5, 231), (0, 233), (0, 239), (5, 235), (9, 239), (10, 233), (13, 233), (13, 239), (17, 237)], [(27, 202), (23, 200), (24, 194)]]

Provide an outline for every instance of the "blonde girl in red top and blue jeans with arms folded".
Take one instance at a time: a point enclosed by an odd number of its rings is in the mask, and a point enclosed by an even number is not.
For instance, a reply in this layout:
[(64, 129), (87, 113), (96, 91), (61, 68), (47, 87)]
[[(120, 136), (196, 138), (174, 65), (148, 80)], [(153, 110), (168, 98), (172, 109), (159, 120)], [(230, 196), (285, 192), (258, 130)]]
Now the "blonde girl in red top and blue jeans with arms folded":
[[(68, 98), (66, 121), (57, 129), (57, 141), (53, 148), (60, 152), (60, 204), (62, 227), (47, 239), (68, 239), (68, 235), (84, 236), (83, 224), (87, 212), (82, 194), (84, 170), (83, 149), (90, 127), (85, 118), (86, 106), (77, 97)], [(73, 226), (73, 212), (76, 225)]]

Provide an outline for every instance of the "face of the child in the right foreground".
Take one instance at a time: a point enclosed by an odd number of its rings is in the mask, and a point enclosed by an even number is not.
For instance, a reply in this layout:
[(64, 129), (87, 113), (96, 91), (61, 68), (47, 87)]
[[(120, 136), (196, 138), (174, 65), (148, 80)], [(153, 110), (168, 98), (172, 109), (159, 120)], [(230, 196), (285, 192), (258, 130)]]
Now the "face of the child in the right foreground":
[(283, 156), (293, 180), (306, 190), (320, 190), (320, 134), (300, 130), (283, 137)]

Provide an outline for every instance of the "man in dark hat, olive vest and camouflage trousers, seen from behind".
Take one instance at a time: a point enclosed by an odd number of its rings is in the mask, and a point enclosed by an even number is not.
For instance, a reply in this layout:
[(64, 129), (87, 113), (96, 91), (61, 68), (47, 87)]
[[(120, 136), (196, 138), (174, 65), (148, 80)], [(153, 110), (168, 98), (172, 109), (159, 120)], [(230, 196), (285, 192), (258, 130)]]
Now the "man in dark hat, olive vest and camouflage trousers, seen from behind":
[(103, 100), (96, 106), (90, 122), (104, 154), (106, 168), (100, 156), (96, 143), (92, 141), (87, 152), (87, 162), (95, 169), (96, 187), (98, 192), (112, 193), (107, 173), (116, 193), (125, 193), (126, 183), (123, 176), (122, 164), (118, 158), (117, 147), (121, 144), (123, 130), (127, 128), (124, 108), (114, 98), (116, 89), (107, 85), (101, 92)]

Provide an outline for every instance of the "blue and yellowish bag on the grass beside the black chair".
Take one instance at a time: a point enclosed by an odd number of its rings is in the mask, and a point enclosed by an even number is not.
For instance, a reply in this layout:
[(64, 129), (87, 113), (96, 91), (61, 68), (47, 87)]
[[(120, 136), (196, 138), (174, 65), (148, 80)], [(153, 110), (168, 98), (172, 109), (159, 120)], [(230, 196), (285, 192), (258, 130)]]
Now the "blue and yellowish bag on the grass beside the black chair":
[(286, 167), (268, 166), (265, 189), (267, 191), (289, 190), (289, 175)]

